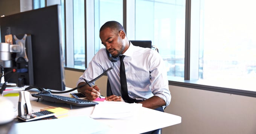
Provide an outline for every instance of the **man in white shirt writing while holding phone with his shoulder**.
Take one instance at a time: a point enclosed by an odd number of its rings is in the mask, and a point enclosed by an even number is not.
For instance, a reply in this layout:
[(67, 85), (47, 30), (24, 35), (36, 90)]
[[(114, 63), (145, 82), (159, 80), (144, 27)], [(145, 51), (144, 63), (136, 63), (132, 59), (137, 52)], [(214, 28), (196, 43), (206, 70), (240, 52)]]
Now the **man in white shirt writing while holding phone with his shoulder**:
[[(113, 66), (113, 69), (107, 72), (111, 87), (108, 90), (113, 93), (105, 98), (107, 101), (142, 103), (143, 107), (163, 111), (171, 101), (171, 93), (164, 62), (157, 51), (131, 44), (123, 26), (116, 21), (106, 22), (101, 27), (99, 36), (105, 48), (95, 54), (88, 68), (79, 78), (78, 86), (84, 84), (85, 80), (93, 80)], [(111, 62), (107, 53), (117, 61)], [(122, 95), (123, 89), (121, 90), (120, 84), (121, 60), (118, 59), (122, 55), (125, 56), (123, 62), (127, 81), (126, 90), (128, 90), (126, 99), (123, 99), (125, 95)], [(100, 95), (98, 86), (86, 85), (79, 88), (78, 92), (84, 93), (89, 100), (96, 99)]]

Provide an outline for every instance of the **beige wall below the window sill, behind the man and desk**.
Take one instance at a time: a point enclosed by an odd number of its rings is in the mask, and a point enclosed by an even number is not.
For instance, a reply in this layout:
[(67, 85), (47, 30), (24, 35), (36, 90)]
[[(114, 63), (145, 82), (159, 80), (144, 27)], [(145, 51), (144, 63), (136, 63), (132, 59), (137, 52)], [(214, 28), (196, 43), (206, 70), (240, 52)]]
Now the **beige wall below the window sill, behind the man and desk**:
[[(66, 85), (75, 87), (82, 72), (65, 73)], [(106, 83), (107, 76), (96, 81), (104, 96)], [(256, 98), (178, 86), (169, 89), (172, 100), (165, 112), (181, 116), (182, 121), (163, 128), (162, 134), (256, 134)]]

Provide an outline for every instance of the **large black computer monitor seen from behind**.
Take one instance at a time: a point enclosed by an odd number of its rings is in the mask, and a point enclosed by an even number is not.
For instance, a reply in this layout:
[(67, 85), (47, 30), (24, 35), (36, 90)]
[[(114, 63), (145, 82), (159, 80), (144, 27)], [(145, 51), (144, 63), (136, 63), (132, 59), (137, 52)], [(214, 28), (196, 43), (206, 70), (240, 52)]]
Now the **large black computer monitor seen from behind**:
[(4, 73), (13, 68), (21, 71), (6, 75), (5, 81), (43, 89), (65, 90), (60, 5), (1, 17), (0, 29), (1, 42), (5, 42), (5, 36), (9, 34), (18, 39), (22, 39), (24, 34), (28, 35), (24, 49), (28, 62), (24, 64), (22, 58), (16, 61), (17, 54), (12, 53), (13, 66), (4, 68)]

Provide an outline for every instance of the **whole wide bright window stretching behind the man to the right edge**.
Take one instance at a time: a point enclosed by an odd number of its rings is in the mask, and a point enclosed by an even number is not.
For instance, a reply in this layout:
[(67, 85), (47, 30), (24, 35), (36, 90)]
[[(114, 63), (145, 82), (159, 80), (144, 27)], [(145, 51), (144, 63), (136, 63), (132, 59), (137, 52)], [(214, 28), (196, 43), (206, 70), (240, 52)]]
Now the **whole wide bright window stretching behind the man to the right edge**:
[(256, 79), (254, 0), (62, 0), (62, 4), (68, 68), (85, 69), (104, 47), (100, 27), (116, 20), (128, 39), (151, 40), (158, 47), (170, 84), (256, 96), (251, 88)]

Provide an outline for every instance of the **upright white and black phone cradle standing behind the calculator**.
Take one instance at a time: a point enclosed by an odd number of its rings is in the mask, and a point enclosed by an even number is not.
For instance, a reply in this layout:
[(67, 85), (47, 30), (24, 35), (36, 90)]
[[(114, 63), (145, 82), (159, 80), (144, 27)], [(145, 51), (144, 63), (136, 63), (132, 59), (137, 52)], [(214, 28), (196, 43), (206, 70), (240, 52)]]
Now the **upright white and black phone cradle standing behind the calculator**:
[(18, 102), (18, 116), (32, 113), (28, 91), (20, 91), (20, 98)]

